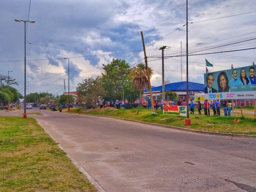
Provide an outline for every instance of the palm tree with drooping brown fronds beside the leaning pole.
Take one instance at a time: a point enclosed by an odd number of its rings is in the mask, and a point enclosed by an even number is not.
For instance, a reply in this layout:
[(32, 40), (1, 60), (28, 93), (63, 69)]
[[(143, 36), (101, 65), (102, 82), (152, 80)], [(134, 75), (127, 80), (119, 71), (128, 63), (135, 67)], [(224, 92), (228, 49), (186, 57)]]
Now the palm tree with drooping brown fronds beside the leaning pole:
[[(153, 74), (153, 69), (149, 67), (148, 72), (149, 76), (151, 77)], [(141, 63), (132, 68), (130, 70), (130, 77), (132, 79), (132, 88), (137, 88), (139, 90), (141, 99), (143, 89), (148, 86), (146, 66)]]

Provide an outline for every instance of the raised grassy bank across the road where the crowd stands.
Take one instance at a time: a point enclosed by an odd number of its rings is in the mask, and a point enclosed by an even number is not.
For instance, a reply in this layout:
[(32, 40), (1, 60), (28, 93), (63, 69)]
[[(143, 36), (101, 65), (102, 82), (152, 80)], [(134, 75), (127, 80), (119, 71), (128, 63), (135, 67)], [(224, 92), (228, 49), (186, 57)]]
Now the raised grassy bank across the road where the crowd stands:
[[(185, 117), (163, 115), (161, 110), (156, 110), (156, 113), (158, 113), (156, 116), (152, 116), (152, 111), (145, 108), (140, 108), (139, 114), (137, 114), (137, 108), (114, 109), (111, 107), (89, 110), (77, 108), (71, 109), (70, 112), (120, 117), (124, 119), (133, 119), (195, 130), (256, 135), (256, 122), (254, 121), (252, 114), (244, 114), (244, 118), (242, 118), (239, 113), (234, 113), (235, 117), (199, 115), (199, 118), (195, 118), (195, 116), (198, 115), (197, 110), (195, 110), (195, 114), (189, 114), (189, 117), (191, 118), (191, 126), (186, 127)], [(211, 111), (210, 114), (213, 114), (213, 112)], [(167, 118), (167, 120), (160, 121), (160, 119), (164, 118)], [(233, 123), (233, 119), (235, 118), (239, 118), (241, 121), (239, 123)]]

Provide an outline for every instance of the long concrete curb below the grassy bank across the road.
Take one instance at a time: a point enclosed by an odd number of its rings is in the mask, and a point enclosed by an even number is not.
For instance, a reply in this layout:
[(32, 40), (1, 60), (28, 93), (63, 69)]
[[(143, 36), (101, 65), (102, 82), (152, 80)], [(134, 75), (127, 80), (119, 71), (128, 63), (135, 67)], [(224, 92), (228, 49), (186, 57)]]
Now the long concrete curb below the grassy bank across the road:
[(220, 132), (212, 132), (212, 131), (194, 130), (194, 129), (187, 129), (187, 128), (182, 128), (182, 127), (174, 127), (174, 126), (170, 126), (170, 125), (161, 125), (161, 124), (157, 124), (157, 123), (148, 123), (148, 122), (137, 121), (137, 120), (132, 120), (132, 119), (123, 119), (123, 118), (120, 118), (120, 117), (105, 116), (105, 115), (91, 115), (91, 114), (72, 113), (72, 112), (63, 112), (63, 113), (89, 115), (89, 116), (96, 116), (96, 117), (97, 116), (109, 117), (109, 118), (114, 118), (114, 119), (119, 119), (119, 120), (124, 120), (124, 121), (132, 121), (132, 122), (143, 123), (143, 124), (147, 124), (147, 125), (165, 127), (165, 128), (168, 128), (168, 129), (175, 129), (175, 130), (193, 132), (193, 133), (202, 133), (202, 134), (209, 134), (209, 135), (219, 135), (219, 136), (229, 136), (229, 137), (244, 137), (244, 138), (254, 138), (254, 139), (256, 139), (256, 135), (247, 135), (247, 134), (238, 134), (238, 133), (220, 133)]

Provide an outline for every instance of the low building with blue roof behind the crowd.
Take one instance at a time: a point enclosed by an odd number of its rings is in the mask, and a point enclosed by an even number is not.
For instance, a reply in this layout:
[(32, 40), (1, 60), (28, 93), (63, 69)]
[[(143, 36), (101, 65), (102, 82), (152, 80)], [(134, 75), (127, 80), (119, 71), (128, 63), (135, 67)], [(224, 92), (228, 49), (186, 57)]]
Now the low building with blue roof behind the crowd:
[[(165, 91), (172, 91), (179, 95), (179, 98), (186, 99), (187, 96), (187, 82), (175, 82), (175, 83), (168, 83), (164, 85)], [(159, 96), (162, 94), (162, 85), (158, 87), (151, 86), (153, 96)], [(188, 82), (188, 91), (189, 97), (192, 97), (194, 94), (204, 93), (204, 84), (201, 83), (194, 83)], [(148, 96), (149, 91), (144, 90), (143, 96)]]

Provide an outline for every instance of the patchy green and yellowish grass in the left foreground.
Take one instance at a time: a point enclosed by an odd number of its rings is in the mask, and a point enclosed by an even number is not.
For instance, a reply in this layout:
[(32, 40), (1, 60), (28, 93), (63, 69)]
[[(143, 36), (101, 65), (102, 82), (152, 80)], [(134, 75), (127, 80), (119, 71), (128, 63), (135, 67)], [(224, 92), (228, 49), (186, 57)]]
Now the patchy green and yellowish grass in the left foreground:
[(0, 191), (96, 191), (35, 119), (0, 122)]

